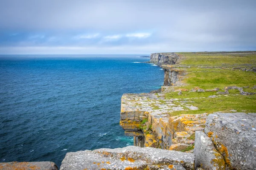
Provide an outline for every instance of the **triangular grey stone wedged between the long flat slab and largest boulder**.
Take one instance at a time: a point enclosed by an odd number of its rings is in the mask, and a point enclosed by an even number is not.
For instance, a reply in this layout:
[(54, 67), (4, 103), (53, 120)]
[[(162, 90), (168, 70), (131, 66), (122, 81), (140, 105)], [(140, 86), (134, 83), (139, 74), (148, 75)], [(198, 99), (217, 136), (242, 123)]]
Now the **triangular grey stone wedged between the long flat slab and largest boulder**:
[(195, 132), (195, 167), (206, 170), (224, 170), (223, 156), (215, 149), (212, 140), (202, 131)]

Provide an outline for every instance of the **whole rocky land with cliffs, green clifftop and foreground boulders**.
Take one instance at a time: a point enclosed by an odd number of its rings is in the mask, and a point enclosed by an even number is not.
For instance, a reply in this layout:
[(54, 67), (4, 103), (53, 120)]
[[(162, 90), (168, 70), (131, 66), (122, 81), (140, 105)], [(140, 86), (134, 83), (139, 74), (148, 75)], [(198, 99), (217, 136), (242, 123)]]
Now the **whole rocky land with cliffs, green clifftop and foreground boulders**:
[[(255, 169), (256, 52), (154, 53), (150, 62), (164, 70), (161, 91), (121, 99), (120, 125), (134, 146), (67, 153), (60, 169)], [(0, 163), (20, 166), (57, 168)]]

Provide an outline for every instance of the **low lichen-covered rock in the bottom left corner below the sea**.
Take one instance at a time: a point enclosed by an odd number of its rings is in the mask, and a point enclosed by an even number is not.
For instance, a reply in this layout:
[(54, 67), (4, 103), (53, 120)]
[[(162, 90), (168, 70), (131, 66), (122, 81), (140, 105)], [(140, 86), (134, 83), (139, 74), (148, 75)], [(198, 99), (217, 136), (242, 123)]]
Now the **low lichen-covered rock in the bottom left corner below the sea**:
[(3, 162), (0, 170), (58, 170), (54, 162)]

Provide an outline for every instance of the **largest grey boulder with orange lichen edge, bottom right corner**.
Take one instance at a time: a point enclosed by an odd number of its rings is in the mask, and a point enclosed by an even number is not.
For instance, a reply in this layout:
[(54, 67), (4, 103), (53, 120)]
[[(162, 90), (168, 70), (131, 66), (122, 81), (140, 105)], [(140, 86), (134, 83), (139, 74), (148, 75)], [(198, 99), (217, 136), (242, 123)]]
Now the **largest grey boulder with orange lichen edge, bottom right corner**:
[(209, 114), (205, 133), (212, 138), (229, 168), (256, 167), (256, 116), (246, 113)]

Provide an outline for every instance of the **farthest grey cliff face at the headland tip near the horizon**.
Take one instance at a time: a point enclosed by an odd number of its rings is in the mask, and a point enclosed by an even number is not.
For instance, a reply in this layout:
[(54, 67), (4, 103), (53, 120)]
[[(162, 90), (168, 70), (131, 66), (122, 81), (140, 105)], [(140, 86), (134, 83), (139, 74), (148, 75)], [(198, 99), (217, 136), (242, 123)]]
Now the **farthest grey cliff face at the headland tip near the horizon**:
[(176, 53), (152, 53), (150, 55), (150, 62), (157, 65), (175, 64), (178, 59), (180, 57)]

